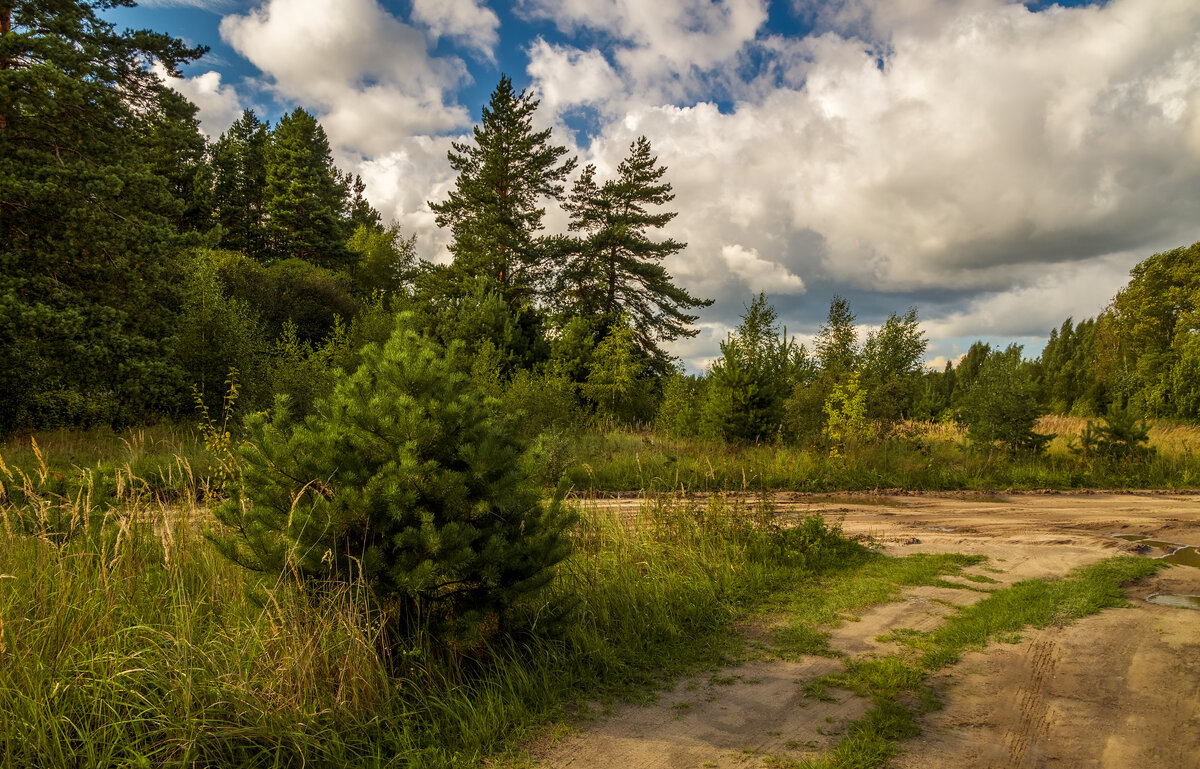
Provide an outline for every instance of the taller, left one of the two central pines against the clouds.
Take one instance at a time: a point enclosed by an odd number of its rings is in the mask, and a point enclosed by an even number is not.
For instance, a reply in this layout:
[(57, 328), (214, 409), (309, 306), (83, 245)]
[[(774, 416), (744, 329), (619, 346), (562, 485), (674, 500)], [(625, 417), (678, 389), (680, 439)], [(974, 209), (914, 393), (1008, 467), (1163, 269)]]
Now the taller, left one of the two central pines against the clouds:
[(502, 77), (474, 143), (455, 142), (448, 154), (458, 179), (449, 198), (430, 204), (438, 226), (452, 234), (454, 263), (440, 290), (457, 293), (464, 278), (482, 276), (509, 304), (538, 299), (547, 269), (547, 245), (538, 236), (541, 202), (562, 197), (575, 158), (563, 160), (566, 148), (550, 143), (550, 128), (533, 130), (536, 108), (536, 100)]

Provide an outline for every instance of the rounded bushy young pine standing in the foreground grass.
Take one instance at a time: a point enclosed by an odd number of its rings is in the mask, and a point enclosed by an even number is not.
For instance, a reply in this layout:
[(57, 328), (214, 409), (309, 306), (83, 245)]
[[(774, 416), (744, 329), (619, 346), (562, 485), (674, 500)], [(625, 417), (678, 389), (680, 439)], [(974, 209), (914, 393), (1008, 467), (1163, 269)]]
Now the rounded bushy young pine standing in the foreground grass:
[(560, 495), (544, 504), (496, 402), (458, 346), (391, 338), (289, 423), (247, 420), (241, 480), (212, 539), (254, 570), (368, 585), (408, 635), (474, 644), (539, 593), (569, 553)]

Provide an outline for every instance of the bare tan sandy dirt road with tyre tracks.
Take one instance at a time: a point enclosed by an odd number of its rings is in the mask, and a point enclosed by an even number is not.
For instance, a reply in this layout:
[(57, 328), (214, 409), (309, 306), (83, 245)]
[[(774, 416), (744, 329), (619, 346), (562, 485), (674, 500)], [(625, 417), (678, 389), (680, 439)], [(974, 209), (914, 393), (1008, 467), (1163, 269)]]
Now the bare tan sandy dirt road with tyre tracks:
[[(635, 506), (614, 500), (613, 506)], [(1139, 552), (1114, 534), (1200, 545), (1200, 493), (780, 495), (781, 512), (820, 511), (890, 554), (988, 555), (968, 572), (1000, 585), (1054, 578)], [(1159, 551), (1142, 548), (1140, 554)], [(1160, 606), (1153, 593), (1200, 595), (1200, 569), (1172, 566), (1133, 585), (1133, 608), (994, 643), (934, 677), (944, 707), (901, 745), (907, 769), (1200, 769), (1200, 611)], [(853, 656), (887, 654), (890, 630), (930, 630), (950, 605), (982, 597), (916, 588), (833, 629)], [(804, 696), (828, 659), (760, 660), (679, 681), (649, 707), (625, 707), (534, 749), (542, 767), (676, 769), (786, 767), (820, 755), (868, 703)]]

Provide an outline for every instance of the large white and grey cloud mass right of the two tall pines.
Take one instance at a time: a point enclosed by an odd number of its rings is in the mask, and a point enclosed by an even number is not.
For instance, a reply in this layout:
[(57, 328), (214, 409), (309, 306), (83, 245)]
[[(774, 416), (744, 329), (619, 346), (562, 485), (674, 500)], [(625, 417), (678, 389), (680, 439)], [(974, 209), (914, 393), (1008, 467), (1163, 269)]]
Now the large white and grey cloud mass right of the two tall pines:
[[(670, 17), (686, 4), (664, 5)], [(1190, 0), (1045, 12), (1000, 0), (821, 4), (816, 36), (743, 31), (720, 55), (692, 59), (736, 84), (727, 109), (642, 97), (670, 83), (622, 58), (648, 43), (618, 6), (566, 4), (556, 16), (624, 35), (619, 84), (607, 97), (588, 91), (611, 118), (586, 154), (611, 166), (630, 138), (650, 138), (678, 193), (673, 234), (691, 244), (671, 266), (718, 298), (709, 319), (732, 325), (734, 287), (748, 283), (750, 263), (719, 244), (803, 276), (810, 293), (814, 282), (857, 292), (871, 318), (938, 293), (946, 314), (931, 332), (1018, 335), (1046, 332), (1067, 306), (1094, 314), (1134, 262), (1200, 238)], [(533, 48), (529, 73), (554, 94), (571, 67), (560, 55), (547, 66), (546, 54)], [(751, 54), (767, 64), (738, 79)], [(1105, 280), (1087, 280), (1097, 270)], [(781, 314), (796, 301), (781, 298)]]

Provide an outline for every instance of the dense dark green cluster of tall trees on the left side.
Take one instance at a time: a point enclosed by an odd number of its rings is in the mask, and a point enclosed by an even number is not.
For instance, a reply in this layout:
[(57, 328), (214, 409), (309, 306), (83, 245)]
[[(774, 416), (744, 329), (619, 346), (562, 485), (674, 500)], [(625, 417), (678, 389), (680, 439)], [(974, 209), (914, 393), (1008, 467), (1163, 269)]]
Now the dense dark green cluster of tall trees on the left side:
[[(211, 393), (230, 368), (257, 376), (264, 330), (290, 320), (316, 341), (354, 312), (340, 278), (313, 270), (354, 266), (347, 239), (378, 223), (302, 110), (274, 130), (247, 113), (210, 149), (150, 68), (202, 52), (116, 32), (100, 16), (114, 5), (132, 2), (0, 7), (4, 432), (150, 421), (188, 411), (192, 386)], [(265, 292), (244, 276), (239, 293), (194, 253), (216, 241), (304, 262), (272, 264)]]

